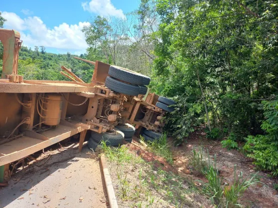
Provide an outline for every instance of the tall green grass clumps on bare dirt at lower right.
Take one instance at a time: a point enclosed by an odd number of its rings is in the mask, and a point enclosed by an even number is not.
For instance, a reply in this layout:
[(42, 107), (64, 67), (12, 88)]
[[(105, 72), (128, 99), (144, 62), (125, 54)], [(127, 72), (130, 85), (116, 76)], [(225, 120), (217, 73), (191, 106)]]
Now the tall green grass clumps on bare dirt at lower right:
[[(236, 174), (236, 166), (234, 166), (234, 179), (231, 184), (223, 182), (223, 177), (219, 176), (219, 171), (216, 167), (216, 156), (213, 161), (210, 161), (210, 156), (207, 153), (204, 157), (203, 148), (199, 147), (198, 151), (193, 149), (193, 155), (190, 158), (190, 165), (194, 171), (203, 174), (208, 182), (202, 184), (198, 189), (206, 194), (211, 203), (216, 207), (242, 207), (240, 200), (244, 191), (250, 185), (259, 183), (255, 173), (250, 178), (243, 178), (243, 173)], [(196, 174), (196, 172), (195, 172)]]

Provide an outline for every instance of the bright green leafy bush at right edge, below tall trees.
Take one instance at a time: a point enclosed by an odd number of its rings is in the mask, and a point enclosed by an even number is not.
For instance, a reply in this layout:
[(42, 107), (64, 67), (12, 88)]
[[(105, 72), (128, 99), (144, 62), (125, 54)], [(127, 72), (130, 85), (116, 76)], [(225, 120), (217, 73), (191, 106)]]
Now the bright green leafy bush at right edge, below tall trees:
[(261, 128), (265, 135), (248, 135), (243, 149), (247, 156), (254, 159), (254, 164), (278, 175), (278, 100), (263, 101), (265, 120)]

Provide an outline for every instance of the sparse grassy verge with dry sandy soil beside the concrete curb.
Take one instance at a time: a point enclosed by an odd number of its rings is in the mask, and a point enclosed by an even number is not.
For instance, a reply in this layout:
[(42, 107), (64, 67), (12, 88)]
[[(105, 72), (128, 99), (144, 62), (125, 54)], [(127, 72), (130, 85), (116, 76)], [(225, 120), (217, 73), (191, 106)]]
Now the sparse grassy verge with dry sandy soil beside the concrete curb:
[[(109, 147), (102, 142), (101, 148), (109, 160), (110, 174), (120, 207), (201, 207), (205, 197), (194, 192), (191, 182), (156, 168), (125, 147)], [(196, 201), (194, 197), (202, 200)]]

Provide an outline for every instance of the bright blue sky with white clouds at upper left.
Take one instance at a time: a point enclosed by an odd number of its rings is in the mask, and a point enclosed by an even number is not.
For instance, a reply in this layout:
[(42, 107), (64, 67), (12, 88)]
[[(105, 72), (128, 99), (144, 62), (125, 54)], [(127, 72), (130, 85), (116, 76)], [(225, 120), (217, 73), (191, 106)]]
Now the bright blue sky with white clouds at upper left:
[(87, 44), (81, 31), (91, 17), (125, 17), (140, 0), (3, 0), (4, 28), (21, 33), (24, 45), (44, 45), (48, 52), (81, 54)]

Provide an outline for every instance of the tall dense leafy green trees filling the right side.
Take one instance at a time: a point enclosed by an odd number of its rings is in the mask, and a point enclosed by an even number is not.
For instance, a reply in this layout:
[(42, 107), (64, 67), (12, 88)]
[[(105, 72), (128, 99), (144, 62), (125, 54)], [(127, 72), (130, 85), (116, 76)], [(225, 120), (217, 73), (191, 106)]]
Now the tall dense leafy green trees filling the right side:
[[(260, 100), (273, 98), (278, 88), (278, 4), (238, 2), (158, 0), (161, 22), (153, 33), (157, 57), (151, 87), (181, 100), (181, 107), (168, 114), (167, 130), (174, 129), (178, 140), (196, 120), (207, 121), (205, 103), (212, 128), (227, 128), (237, 138), (263, 132)], [(192, 115), (195, 104), (200, 110)], [(215, 139), (218, 133), (208, 136)]]

